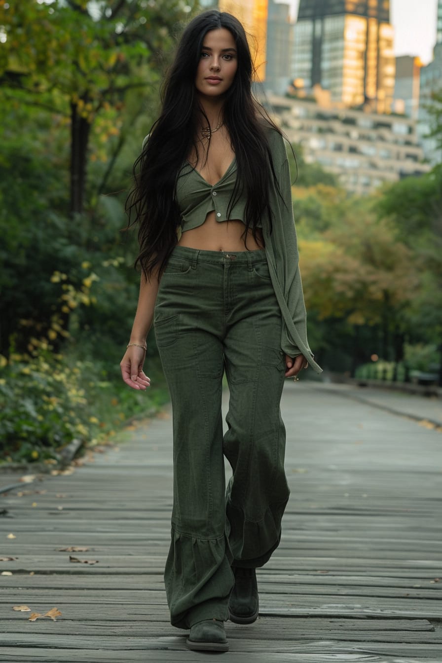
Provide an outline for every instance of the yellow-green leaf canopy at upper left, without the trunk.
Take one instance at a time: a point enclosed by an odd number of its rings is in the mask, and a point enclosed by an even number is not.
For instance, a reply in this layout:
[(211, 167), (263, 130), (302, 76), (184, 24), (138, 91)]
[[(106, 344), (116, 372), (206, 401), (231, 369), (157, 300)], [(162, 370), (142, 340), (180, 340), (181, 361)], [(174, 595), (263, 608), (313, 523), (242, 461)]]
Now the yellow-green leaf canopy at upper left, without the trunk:
[[(158, 80), (162, 53), (188, 17), (176, 0), (26, 1), (3, 8), (0, 75), (12, 89), (93, 120), (106, 103)], [(25, 97), (24, 97), (25, 98)]]

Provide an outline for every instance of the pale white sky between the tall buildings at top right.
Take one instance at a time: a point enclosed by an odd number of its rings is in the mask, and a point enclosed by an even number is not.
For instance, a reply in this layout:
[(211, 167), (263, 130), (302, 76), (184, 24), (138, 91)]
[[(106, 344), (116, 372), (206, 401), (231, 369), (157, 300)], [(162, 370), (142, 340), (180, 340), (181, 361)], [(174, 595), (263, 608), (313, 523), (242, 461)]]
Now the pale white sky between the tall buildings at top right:
[[(298, 14), (300, 0), (276, 0)], [(433, 59), (436, 41), (437, 0), (390, 0), (390, 20), (394, 25), (394, 54), (418, 55), (423, 64)]]

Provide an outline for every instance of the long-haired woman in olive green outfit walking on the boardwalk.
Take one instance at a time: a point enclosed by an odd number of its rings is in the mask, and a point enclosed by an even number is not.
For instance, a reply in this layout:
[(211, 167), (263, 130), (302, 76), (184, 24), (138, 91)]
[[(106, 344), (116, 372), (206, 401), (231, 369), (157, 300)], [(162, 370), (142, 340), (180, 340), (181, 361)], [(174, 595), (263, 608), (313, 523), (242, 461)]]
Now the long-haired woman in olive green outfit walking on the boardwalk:
[(153, 321), (174, 428), (164, 580), (171, 623), (190, 628), (195, 650), (227, 651), (223, 622), (258, 617), (255, 569), (280, 542), (289, 496), (284, 377), (321, 371), (305, 333), (286, 149), (252, 98), (252, 71), (235, 17), (213, 10), (190, 22), (128, 203), (142, 276), (121, 371), (133, 389), (150, 385)]

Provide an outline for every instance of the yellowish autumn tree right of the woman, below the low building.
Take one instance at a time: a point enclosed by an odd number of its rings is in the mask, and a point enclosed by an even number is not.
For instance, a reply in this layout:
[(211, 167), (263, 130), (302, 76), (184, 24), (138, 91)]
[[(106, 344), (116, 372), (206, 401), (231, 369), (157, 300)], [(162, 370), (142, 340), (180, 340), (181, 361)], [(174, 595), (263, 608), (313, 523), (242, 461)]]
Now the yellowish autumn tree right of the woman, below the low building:
[(309, 236), (304, 225), (300, 264), (307, 309), (319, 321), (345, 320), (356, 336), (363, 326), (377, 327), (378, 353), (384, 359), (403, 358), (419, 274), (394, 223), (376, 219), (368, 199), (341, 204), (341, 217), (321, 233)]

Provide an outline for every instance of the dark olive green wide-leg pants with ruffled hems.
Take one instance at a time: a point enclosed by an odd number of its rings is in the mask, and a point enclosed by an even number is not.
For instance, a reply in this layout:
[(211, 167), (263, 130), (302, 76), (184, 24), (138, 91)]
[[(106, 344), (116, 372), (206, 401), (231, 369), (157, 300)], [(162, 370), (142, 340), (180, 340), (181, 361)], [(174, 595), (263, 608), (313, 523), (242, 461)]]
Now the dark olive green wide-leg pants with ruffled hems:
[[(280, 414), (281, 314), (264, 251), (176, 247), (154, 313), (172, 400), (174, 505), (164, 581), (171, 623), (229, 618), (231, 565), (278, 546), (289, 489)], [(223, 436), (223, 374), (229, 385)], [(224, 455), (233, 476), (225, 491)]]

